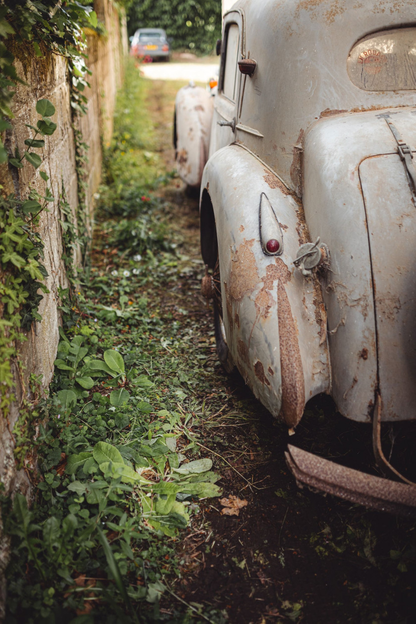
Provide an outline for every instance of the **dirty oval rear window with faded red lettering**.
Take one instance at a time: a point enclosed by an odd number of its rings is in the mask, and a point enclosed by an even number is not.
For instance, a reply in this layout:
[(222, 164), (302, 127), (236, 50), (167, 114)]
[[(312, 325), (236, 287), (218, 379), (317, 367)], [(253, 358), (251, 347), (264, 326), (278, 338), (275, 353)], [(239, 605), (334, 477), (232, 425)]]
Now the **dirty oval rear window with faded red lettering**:
[(416, 89), (416, 28), (396, 28), (361, 39), (349, 54), (347, 72), (364, 91)]

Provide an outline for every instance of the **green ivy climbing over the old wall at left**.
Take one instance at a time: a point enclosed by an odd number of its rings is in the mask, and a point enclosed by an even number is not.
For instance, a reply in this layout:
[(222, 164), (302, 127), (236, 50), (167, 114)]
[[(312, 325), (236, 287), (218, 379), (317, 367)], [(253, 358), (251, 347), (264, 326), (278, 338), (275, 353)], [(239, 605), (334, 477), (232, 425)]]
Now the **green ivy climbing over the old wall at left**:
[[(12, 129), (13, 87), (25, 84), (17, 75), (16, 57), (45, 57), (56, 54), (67, 59), (71, 78), (71, 105), (74, 114), (85, 112), (84, 89), (89, 71), (85, 64), (86, 40), (83, 27), (97, 27), (97, 15), (91, 6), (57, 0), (2, 0), (0, 3), (0, 164), (8, 166), (16, 178), (18, 169), (41, 167), (37, 150), (56, 130), (51, 117), (54, 106), (39, 100), (40, 115), (36, 127), (28, 125), (23, 154), (6, 147), (4, 137)], [(13, 172), (15, 172), (13, 174)], [(0, 409), (4, 416), (14, 399), (11, 361), (16, 356), (16, 343), (25, 339), (21, 329), (40, 321), (37, 308), (47, 292), (42, 265), (43, 243), (36, 231), (39, 216), (54, 201), (46, 172), (41, 171), (44, 193), (31, 190), (28, 198), (19, 193), (0, 195)], [(2, 187), (0, 186), (2, 191)]]

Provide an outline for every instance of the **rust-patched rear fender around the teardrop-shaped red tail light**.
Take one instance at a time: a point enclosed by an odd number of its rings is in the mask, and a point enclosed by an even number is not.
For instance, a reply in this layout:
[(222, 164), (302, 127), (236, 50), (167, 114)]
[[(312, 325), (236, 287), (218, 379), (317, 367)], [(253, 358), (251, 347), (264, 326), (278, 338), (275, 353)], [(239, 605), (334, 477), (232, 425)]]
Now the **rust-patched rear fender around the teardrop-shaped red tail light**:
[[(215, 215), (231, 356), (254, 395), (294, 427), (306, 401), (330, 387), (321, 288), (316, 278), (305, 280), (293, 265), (297, 249), (309, 240), (302, 205), (238, 145), (211, 156), (201, 188), (209, 193)], [(283, 232), (279, 256), (266, 255), (261, 246), (262, 193)]]

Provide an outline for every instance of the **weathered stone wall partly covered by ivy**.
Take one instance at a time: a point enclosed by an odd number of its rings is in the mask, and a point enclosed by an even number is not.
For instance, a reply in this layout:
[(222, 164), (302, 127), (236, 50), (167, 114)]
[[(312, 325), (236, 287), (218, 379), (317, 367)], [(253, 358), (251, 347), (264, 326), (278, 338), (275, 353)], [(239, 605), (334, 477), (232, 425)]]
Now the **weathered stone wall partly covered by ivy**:
[[(85, 90), (88, 98), (87, 114), (75, 120), (81, 130), (83, 140), (90, 146), (89, 162), (85, 165), (84, 181), (88, 183), (85, 197), (86, 210), (92, 217), (94, 193), (100, 183), (102, 163), (102, 141), (108, 142), (112, 134), (112, 117), (114, 114), (115, 96), (121, 86), (123, 77), (123, 55), (127, 52), (127, 31), (125, 18), (119, 14), (109, 0), (96, 0), (94, 9), (99, 20), (104, 22), (107, 34), (99, 36), (94, 31), (87, 32), (88, 66), (92, 70), (89, 77), (90, 89)], [(78, 204), (78, 179), (75, 169), (75, 141), (70, 106), (70, 75), (65, 59), (49, 54), (41, 59), (36, 58), (24, 47), (14, 47), (15, 66), (18, 75), (27, 85), (17, 85), (12, 110), (12, 130), (6, 132), (6, 146), (13, 152), (18, 147), (20, 154), (24, 152), (24, 140), (32, 136), (26, 124), (36, 126), (39, 115), (36, 113), (36, 102), (46, 98), (56, 108), (52, 120), (57, 130), (52, 137), (45, 137), (45, 147), (36, 150), (42, 157), (39, 169), (26, 163), (24, 168), (17, 170), (7, 165), (0, 166), (0, 183), (2, 193), (15, 193), (25, 200), (31, 188), (44, 194), (45, 182), (39, 175), (40, 170), (46, 171), (51, 180), (54, 202), (48, 204), (49, 212), (43, 212), (39, 223), (39, 233), (44, 241), (44, 266), (49, 277), (46, 286), (49, 294), (44, 295), (39, 306), (42, 315), (41, 323), (34, 323), (27, 331), (26, 341), (19, 346), (19, 362), (12, 363), (16, 381), (16, 402), (12, 405), (7, 418), (0, 412), (0, 480), (6, 494), (17, 490), (30, 497), (31, 482), (29, 470), (32, 466), (25, 465), (18, 470), (14, 460), (13, 427), (19, 418), (19, 404), (22, 397), (29, 397), (29, 377), (31, 373), (42, 374), (42, 387), (46, 391), (54, 372), (58, 328), (61, 324), (59, 305), (59, 286), (67, 286), (65, 267), (62, 261), (62, 236), (60, 229), (59, 197), (65, 190), (67, 202), (74, 214)], [(0, 279), (2, 275), (0, 275)], [(0, 318), (2, 305), (0, 303)], [(1, 519), (0, 519), (1, 529)], [(0, 622), (4, 617), (5, 583), (2, 572), (7, 564), (7, 540), (0, 539)]]

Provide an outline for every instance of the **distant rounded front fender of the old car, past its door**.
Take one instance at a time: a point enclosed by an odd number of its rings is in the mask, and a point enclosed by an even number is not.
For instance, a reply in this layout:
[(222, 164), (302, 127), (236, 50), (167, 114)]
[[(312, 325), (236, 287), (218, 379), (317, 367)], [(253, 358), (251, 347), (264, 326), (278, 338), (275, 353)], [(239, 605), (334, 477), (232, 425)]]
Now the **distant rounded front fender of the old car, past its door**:
[(181, 180), (199, 187), (208, 150), (213, 97), (202, 87), (189, 84), (177, 93), (175, 102), (175, 157)]

